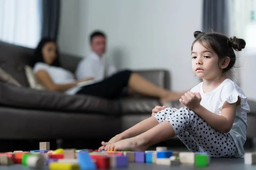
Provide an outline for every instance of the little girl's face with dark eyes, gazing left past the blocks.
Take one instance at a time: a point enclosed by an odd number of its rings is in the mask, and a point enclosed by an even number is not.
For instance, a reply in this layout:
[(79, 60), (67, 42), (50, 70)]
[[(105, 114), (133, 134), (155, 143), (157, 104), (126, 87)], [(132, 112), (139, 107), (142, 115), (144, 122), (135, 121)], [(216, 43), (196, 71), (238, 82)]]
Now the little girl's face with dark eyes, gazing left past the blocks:
[(218, 55), (195, 42), (192, 48), (192, 70), (198, 78), (212, 80), (222, 76), (219, 68)]

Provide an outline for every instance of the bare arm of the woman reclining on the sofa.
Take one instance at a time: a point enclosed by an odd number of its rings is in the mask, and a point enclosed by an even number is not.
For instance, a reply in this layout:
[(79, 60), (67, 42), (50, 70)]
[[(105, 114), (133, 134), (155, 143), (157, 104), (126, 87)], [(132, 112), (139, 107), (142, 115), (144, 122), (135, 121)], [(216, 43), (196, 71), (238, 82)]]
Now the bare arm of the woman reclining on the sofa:
[(44, 70), (38, 70), (36, 72), (36, 76), (38, 79), (44, 84), (44, 86), (49, 90), (49, 91), (66, 91), (70, 88), (75, 87), (78, 82), (73, 82), (69, 84), (55, 84), (47, 71)]

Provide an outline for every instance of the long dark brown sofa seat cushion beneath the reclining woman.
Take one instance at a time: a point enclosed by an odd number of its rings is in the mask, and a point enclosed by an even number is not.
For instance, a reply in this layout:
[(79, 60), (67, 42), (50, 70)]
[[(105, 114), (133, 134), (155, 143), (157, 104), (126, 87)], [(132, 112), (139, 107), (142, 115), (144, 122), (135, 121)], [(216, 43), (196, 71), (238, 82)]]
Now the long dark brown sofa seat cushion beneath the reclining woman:
[(35, 90), (0, 83), (0, 105), (45, 111), (119, 114), (118, 102), (87, 95)]

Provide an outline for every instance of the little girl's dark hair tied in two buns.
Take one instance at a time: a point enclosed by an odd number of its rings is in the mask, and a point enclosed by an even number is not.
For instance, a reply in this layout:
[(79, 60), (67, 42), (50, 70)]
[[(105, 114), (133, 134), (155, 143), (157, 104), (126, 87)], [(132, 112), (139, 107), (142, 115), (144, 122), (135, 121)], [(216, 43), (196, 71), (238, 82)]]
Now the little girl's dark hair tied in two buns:
[(234, 50), (241, 51), (245, 47), (245, 41), (240, 38), (231, 37), (228, 38), (224, 34), (216, 33), (216, 32), (201, 32), (195, 31), (194, 37), (195, 41), (192, 43), (192, 48), (195, 42), (199, 42), (205, 48), (212, 49), (219, 58), (219, 62), (221, 62), (224, 57), (230, 57), (230, 63), (227, 68), (223, 69), (223, 73), (229, 71), (236, 62), (236, 54)]

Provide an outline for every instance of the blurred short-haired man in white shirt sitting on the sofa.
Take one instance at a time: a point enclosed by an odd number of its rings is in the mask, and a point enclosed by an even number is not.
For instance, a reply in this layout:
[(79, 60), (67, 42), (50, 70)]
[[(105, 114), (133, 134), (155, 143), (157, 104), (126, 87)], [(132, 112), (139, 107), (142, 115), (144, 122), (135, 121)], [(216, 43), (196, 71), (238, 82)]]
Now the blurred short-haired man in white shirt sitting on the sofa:
[(93, 78), (96, 81), (101, 81), (117, 72), (114, 65), (105, 61), (106, 36), (103, 32), (94, 31), (90, 35), (90, 48), (90, 54), (82, 59), (77, 66), (77, 79)]

